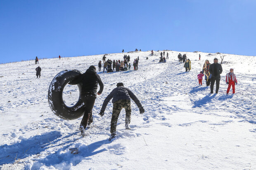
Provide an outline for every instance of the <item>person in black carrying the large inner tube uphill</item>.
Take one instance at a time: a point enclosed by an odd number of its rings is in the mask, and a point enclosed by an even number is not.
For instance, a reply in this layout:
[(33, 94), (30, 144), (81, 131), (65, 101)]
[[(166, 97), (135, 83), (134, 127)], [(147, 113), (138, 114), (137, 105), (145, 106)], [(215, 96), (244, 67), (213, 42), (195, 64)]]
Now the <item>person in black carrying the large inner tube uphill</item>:
[[(80, 131), (83, 136), (85, 136), (85, 128), (90, 128), (92, 123), (92, 108), (97, 95), (100, 95), (103, 91), (104, 85), (97, 75), (96, 68), (91, 65), (85, 73), (73, 79), (72, 84), (82, 83), (81, 89), (81, 99), (85, 104), (85, 113), (83, 114), (83, 119), (80, 123)], [(100, 90), (97, 92), (98, 84), (100, 85)], [(97, 95), (96, 95), (97, 92)]]

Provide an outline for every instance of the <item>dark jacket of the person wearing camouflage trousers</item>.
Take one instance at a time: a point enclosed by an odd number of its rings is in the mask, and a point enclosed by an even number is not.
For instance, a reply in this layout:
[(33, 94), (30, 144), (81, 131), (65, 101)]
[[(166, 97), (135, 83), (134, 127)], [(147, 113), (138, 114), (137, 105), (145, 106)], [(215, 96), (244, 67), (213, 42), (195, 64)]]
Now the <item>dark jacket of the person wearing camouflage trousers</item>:
[(137, 107), (139, 107), (139, 108), (142, 107), (140, 100), (137, 99), (136, 95), (134, 95), (133, 92), (131, 92), (126, 87), (119, 86), (119, 87), (114, 88), (114, 90), (112, 90), (111, 93), (109, 93), (107, 98), (105, 98), (105, 100), (102, 104), (102, 108), (101, 108), (103, 111), (105, 111), (107, 104), (109, 103), (111, 98), (113, 98), (112, 103), (114, 103), (118, 100), (122, 100), (122, 99), (125, 99), (125, 100), (133, 99), (133, 101), (135, 102)]

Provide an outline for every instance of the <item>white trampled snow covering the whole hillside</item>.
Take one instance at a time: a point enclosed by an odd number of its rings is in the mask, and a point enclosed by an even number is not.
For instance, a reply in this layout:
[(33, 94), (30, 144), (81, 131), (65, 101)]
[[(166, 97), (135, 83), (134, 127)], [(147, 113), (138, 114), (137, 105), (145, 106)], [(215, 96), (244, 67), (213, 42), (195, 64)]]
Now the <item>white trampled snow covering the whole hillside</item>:
[[(0, 169), (256, 169), (255, 56), (166, 52), (166, 63), (157, 63), (161, 51), (154, 51), (154, 56), (151, 51), (107, 55), (123, 60), (127, 54), (131, 62), (140, 56), (138, 70), (98, 72), (104, 91), (95, 100), (94, 122), (84, 138), (78, 130), (82, 117), (68, 121), (52, 113), (48, 89), (59, 72), (98, 68), (103, 55), (43, 59), (37, 65), (34, 61), (1, 64)], [(190, 58), (190, 72), (178, 63), (179, 53)], [(205, 80), (198, 86), (197, 75), (206, 59), (213, 63), (218, 58), (220, 63), (222, 55), (226, 56), (219, 93), (209, 94)], [(231, 89), (226, 95), (225, 75), (230, 68), (238, 85), (235, 94)], [(98, 113), (118, 82), (137, 95), (145, 113), (140, 114), (132, 101), (131, 130), (125, 130), (122, 110), (117, 137), (109, 141), (112, 103), (104, 116)], [(76, 104), (78, 91), (76, 85), (66, 85), (66, 105)], [(78, 153), (71, 154), (72, 148)]]

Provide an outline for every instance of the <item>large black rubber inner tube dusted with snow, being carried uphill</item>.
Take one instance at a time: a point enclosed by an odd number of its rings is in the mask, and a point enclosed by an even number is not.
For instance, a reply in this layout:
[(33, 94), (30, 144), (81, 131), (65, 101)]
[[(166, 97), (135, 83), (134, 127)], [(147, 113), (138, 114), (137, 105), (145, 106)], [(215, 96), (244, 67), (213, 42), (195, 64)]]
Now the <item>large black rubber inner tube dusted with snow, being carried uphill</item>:
[(77, 84), (80, 93), (75, 105), (72, 107), (66, 106), (62, 98), (63, 89), (66, 84), (81, 74), (82, 72), (79, 70), (63, 70), (52, 79), (48, 90), (48, 102), (52, 112), (61, 119), (74, 120), (84, 114), (85, 104), (80, 97), (82, 84)]

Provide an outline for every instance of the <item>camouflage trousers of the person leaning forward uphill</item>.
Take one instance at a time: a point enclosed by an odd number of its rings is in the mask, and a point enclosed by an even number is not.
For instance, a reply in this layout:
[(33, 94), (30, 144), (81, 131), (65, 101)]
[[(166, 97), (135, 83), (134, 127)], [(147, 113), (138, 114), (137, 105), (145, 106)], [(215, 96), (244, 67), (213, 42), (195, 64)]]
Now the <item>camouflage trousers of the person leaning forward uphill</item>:
[(114, 102), (110, 126), (111, 135), (116, 134), (117, 119), (123, 108), (126, 110), (126, 123), (130, 123), (130, 114), (132, 112), (132, 109), (130, 107), (130, 100), (118, 100)]

